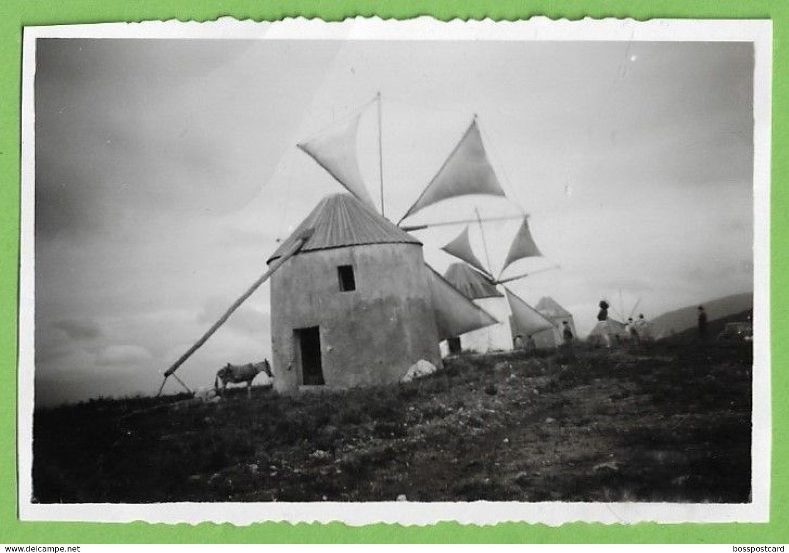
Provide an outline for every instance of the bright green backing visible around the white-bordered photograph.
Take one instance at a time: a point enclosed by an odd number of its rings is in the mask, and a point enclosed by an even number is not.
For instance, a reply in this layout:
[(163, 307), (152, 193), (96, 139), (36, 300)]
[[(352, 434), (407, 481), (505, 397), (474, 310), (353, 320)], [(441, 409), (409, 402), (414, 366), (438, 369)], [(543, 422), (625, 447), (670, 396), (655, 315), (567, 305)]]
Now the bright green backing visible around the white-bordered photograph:
[[(546, 525), (500, 524), (477, 527), (440, 523), (427, 527), (369, 525), (349, 527), (264, 523), (245, 527), (205, 523), (163, 525), (21, 522), (17, 518), (17, 301), (19, 258), (21, 46), (25, 25), (86, 24), (155, 19), (278, 20), (283, 17), (373, 16), (404, 19), (432, 15), (448, 20), (515, 20), (547, 16), (772, 19), (772, 190), (771, 190), (771, 328), (772, 328), (772, 491), (768, 524)], [(466, 0), (415, 2), (389, 0), (312, 0), (312, 2), (195, 2), (194, 0), (0, 0), (0, 543), (256, 543), (256, 542), (424, 542), (424, 543), (708, 543), (780, 544), (789, 541), (789, 390), (783, 361), (789, 359), (787, 254), (789, 192), (783, 180), (789, 169), (789, 2), (768, 0)]]

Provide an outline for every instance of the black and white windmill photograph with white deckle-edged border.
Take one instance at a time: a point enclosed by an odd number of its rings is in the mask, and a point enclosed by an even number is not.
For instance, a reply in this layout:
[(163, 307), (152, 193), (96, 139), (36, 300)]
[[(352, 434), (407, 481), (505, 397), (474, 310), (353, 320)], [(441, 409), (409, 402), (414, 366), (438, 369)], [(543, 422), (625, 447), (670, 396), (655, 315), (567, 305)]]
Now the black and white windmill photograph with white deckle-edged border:
[(26, 30), (23, 518), (765, 520), (769, 49)]

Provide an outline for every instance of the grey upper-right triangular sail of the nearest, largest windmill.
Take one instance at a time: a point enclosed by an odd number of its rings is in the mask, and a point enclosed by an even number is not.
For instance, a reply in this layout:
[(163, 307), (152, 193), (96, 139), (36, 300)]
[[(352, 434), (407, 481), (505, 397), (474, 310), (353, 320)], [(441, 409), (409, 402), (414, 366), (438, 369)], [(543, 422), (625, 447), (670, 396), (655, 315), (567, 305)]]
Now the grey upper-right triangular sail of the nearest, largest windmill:
[(476, 119), (469, 125), (447, 161), (444, 161), (438, 174), (400, 221), (443, 199), (472, 194), (504, 195), (488, 161)]

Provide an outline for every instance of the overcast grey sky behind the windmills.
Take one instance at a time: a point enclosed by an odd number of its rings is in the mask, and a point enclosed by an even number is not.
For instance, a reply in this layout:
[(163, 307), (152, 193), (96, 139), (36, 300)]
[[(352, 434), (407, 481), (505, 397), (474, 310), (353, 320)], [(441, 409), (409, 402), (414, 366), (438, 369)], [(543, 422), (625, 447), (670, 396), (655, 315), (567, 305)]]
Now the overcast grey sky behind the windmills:
[[(450, 200), (409, 222), (525, 210), (546, 259), (506, 274), (561, 269), (512, 288), (551, 295), (581, 333), (603, 297), (641, 299), (649, 318), (753, 290), (748, 43), (39, 39), (37, 56), (37, 404), (155, 392), (276, 240), (342, 191), (295, 144), (377, 91), (387, 216), (477, 113), (512, 201)], [(366, 109), (377, 201), (376, 129)], [(495, 273), (517, 226), (485, 225)], [(415, 233), (439, 272), (461, 230)], [(268, 300), (264, 285), (181, 377), (209, 386), (226, 362), (271, 358)]]

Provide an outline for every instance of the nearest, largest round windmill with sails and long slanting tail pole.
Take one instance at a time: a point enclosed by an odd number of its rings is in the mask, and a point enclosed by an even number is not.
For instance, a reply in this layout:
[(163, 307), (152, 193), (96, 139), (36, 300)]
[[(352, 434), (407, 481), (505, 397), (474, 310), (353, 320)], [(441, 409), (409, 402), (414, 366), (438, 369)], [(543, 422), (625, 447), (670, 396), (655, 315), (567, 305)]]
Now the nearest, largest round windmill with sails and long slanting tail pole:
[[(281, 390), (397, 381), (417, 362), (440, 365), (439, 341), (498, 322), (424, 262), (419, 240), (384, 217), (380, 95), (373, 102), (378, 108), (380, 213), (357, 159), (361, 111), (297, 144), (350, 195), (331, 195), (318, 203), (268, 259), (267, 271), (163, 373), (159, 394), (170, 377), (189, 391), (175, 372), (269, 279), (273, 371), (275, 388)], [(476, 124), (466, 133), (471, 139), (456, 150), (479, 153), (481, 140), (474, 129)], [(484, 164), (472, 162), (469, 169), (478, 169), (476, 176), (492, 175)], [(446, 176), (457, 168), (445, 163), (442, 171), (439, 175)], [(495, 181), (488, 177), (488, 184)], [(446, 187), (433, 187), (432, 198), (423, 194), (417, 203), (475, 193), (472, 188), (446, 192)], [(337, 271), (333, 278), (327, 273), (332, 268)], [(297, 288), (292, 282), (299, 283)]]

